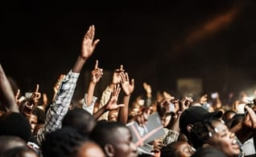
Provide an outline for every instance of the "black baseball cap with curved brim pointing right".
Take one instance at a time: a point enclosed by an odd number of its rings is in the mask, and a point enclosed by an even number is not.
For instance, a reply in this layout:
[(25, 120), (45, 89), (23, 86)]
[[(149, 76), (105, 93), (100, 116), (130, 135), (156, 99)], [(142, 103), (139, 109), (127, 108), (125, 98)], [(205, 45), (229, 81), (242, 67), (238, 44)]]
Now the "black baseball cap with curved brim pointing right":
[(189, 107), (180, 115), (180, 132), (184, 135), (188, 135), (188, 124), (194, 124), (213, 117), (220, 119), (222, 115), (222, 111), (209, 112), (203, 107)]

